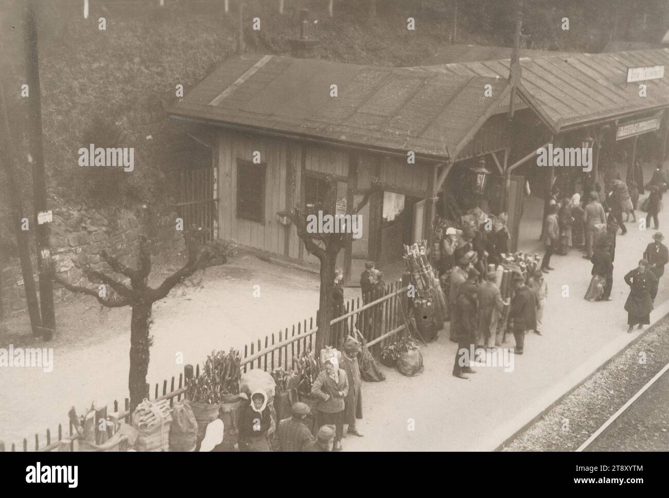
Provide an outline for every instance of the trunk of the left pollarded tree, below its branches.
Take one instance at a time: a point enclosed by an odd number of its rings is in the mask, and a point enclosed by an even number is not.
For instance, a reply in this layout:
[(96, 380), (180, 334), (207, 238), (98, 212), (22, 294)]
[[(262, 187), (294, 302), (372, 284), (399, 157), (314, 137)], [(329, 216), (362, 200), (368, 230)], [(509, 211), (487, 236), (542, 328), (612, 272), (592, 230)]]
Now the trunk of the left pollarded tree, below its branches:
[(145, 384), (149, 370), (149, 324), (151, 323), (151, 306), (153, 303), (138, 303), (132, 306), (130, 321), (130, 411), (142, 402), (145, 397)]

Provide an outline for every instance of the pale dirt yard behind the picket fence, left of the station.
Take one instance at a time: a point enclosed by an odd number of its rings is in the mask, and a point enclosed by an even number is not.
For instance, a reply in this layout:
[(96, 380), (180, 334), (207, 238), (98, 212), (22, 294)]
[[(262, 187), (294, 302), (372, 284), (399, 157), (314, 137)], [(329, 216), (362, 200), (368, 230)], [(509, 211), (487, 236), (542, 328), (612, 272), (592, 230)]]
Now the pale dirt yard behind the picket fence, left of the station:
[[(153, 273), (160, 281), (171, 268)], [(207, 269), (201, 288), (181, 287), (153, 306), (155, 338), (147, 380), (154, 386), (179, 376), (184, 364), (201, 363), (214, 348), (240, 348), (252, 340), (292, 327), (314, 316), (318, 307), (318, 277), (245, 255), (231, 263)], [(254, 297), (260, 285), (260, 297)], [(347, 289), (347, 297), (358, 295)], [(27, 319), (7, 324), (12, 334), (1, 346), (54, 348), (54, 370), (3, 368), (0, 382), (0, 439), (20, 447), (25, 437), (34, 446), (34, 434), (43, 441), (46, 428), (56, 434), (67, 412), (78, 412), (92, 400), (123, 402), (128, 392), (130, 309), (100, 309), (88, 296), (72, 296), (58, 306), (58, 336), (50, 343), (33, 342)], [(195, 325), (196, 324), (196, 325)], [(153, 388), (152, 388), (153, 389)]]

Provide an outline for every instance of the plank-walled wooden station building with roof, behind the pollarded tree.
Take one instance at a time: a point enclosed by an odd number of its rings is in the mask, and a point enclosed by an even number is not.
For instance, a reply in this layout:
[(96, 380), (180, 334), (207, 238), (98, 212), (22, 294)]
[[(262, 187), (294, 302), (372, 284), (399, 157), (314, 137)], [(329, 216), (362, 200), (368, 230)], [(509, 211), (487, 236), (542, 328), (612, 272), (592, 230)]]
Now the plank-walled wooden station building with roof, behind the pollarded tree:
[(366, 260), (399, 267), (402, 245), (427, 237), (455, 158), (508, 147), (508, 100), (498, 77), (233, 57), (169, 110), (211, 150), (211, 162), (185, 169), (185, 221), (264, 255), (318, 265), (277, 213), (322, 205), (328, 176), (337, 180), (329, 210), (346, 213), (378, 178), (381, 191), (361, 211), (362, 236), (339, 256), (355, 285)]

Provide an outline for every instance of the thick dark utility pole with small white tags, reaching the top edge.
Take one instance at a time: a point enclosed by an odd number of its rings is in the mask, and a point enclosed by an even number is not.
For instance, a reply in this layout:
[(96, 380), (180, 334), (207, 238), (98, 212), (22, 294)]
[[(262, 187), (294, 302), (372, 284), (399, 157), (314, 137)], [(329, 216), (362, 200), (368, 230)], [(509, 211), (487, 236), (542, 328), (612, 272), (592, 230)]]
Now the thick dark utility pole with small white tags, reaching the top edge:
[[(39, 271), (39, 305), (44, 339), (51, 340), (56, 328), (54, 314), (54, 283), (49, 273), (51, 251), (49, 225), (39, 224), (39, 213), (47, 211), (46, 178), (42, 148), (41, 87), (39, 84), (39, 51), (37, 49), (37, 1), (29, 0), (25, 9), (25, 73), (28, 84), (28, 128), (33, 156), (33, 199), (35, 205), (35, 239), (37, 241), (37, 269)], [(43, 221), (43, 220), (42, 220)]]

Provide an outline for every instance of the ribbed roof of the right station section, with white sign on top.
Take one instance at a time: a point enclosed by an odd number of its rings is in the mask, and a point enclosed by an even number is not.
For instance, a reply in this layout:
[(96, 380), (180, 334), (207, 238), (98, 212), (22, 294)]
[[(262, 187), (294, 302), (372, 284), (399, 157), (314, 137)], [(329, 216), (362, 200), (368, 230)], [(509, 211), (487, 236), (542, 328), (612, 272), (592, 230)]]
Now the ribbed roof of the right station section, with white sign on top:
[[(669, 49), (578, 53), (521, 58), (521, 94), (555, 132), (669, 106), (669, 73), (660, 80), (627, 84), (628, 68), (669, 65)], [(510, 61), (419, 66), (460, 76), (508, 78)], [(639, 84), (647, 86), (639, 96)]]

